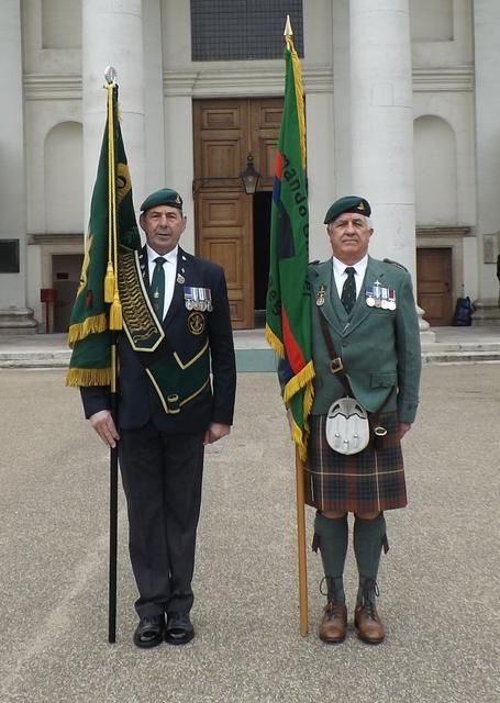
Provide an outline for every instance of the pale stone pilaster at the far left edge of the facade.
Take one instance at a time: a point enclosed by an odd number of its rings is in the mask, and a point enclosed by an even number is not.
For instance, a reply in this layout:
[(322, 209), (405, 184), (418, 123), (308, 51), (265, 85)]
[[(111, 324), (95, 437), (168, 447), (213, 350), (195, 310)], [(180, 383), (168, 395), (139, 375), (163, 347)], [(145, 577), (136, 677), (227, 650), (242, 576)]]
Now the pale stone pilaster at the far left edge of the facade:
[(26, 308), (22, 64), (21, 2), (4, 0), (0, 3), (0, 243), (2, 248), (19, 250), (19, 271), (2, 274), (0, 268), (0, 334), (31, 334), (36, 331), (33, 311)]

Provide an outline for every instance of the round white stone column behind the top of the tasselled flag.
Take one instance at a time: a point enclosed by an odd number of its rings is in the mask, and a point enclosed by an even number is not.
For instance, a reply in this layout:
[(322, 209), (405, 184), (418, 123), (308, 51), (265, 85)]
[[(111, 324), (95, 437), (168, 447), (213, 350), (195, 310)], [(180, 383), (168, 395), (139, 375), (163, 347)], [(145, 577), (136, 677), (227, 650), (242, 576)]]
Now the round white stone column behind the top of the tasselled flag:
[(144, 70), (141, 0), (82, 1), (85, 231), (104, 133), (104, 70), (116, 70), (123, 143), (136, 209), (144, 197)]

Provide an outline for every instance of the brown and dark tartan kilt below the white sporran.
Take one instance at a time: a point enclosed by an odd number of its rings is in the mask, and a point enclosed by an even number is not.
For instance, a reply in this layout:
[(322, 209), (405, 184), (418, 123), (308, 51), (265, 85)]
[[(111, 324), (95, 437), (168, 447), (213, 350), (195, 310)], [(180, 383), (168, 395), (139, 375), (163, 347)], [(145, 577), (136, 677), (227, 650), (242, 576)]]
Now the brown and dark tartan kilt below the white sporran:
[(326, 415), (310, 415), (304, 466), (305, 503), (323, 512), (373, 513), (404, 507), (407, 487), (396, 412), (380, 413), (387, 435), (374, 446), (346, 456), (326, 442)]

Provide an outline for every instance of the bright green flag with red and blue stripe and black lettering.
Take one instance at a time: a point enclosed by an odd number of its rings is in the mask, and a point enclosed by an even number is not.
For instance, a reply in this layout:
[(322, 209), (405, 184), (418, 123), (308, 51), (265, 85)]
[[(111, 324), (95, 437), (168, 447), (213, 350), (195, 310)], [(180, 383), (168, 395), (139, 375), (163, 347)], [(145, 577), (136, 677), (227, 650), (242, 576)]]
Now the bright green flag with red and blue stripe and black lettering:
[(284, 402), (291, 409), (293, 440), (301, 459), (305, 459), (314, 377), (305, 127), (299, 57), (290, 35), (286, 42), (285, 107), (273, 182), (266, 338), (281, 359)]

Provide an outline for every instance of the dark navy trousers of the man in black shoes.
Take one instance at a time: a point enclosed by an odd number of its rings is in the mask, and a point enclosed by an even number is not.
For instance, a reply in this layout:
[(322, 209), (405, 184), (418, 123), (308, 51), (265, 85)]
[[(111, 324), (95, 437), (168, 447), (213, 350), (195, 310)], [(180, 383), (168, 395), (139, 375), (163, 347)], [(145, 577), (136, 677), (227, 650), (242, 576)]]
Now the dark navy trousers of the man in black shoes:
[(203, 434), (167, 434), (148, 423), (121, 429), (119, 459), (140, 617), (190, 611), (201, 504)]

